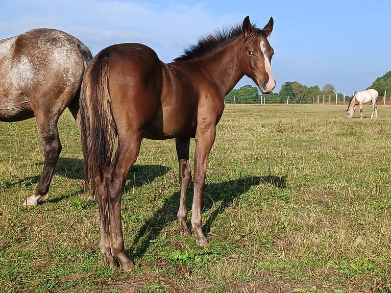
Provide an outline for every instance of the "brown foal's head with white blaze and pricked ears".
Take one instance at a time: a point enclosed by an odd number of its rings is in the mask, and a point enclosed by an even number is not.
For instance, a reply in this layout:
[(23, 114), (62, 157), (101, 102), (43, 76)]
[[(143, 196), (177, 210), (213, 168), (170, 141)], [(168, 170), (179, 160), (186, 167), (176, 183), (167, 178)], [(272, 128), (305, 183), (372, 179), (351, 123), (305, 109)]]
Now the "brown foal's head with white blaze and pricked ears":
[(260, 30), (251, 25), (247, 16), (243, 20), (242, 30), (245, 34), (242, 52), (243, 72), (258, 85), (262, 93), (271, 93), (276, 86), (271, 65), (274, 50), (267, 37), (273, 31), (273, 17)]

